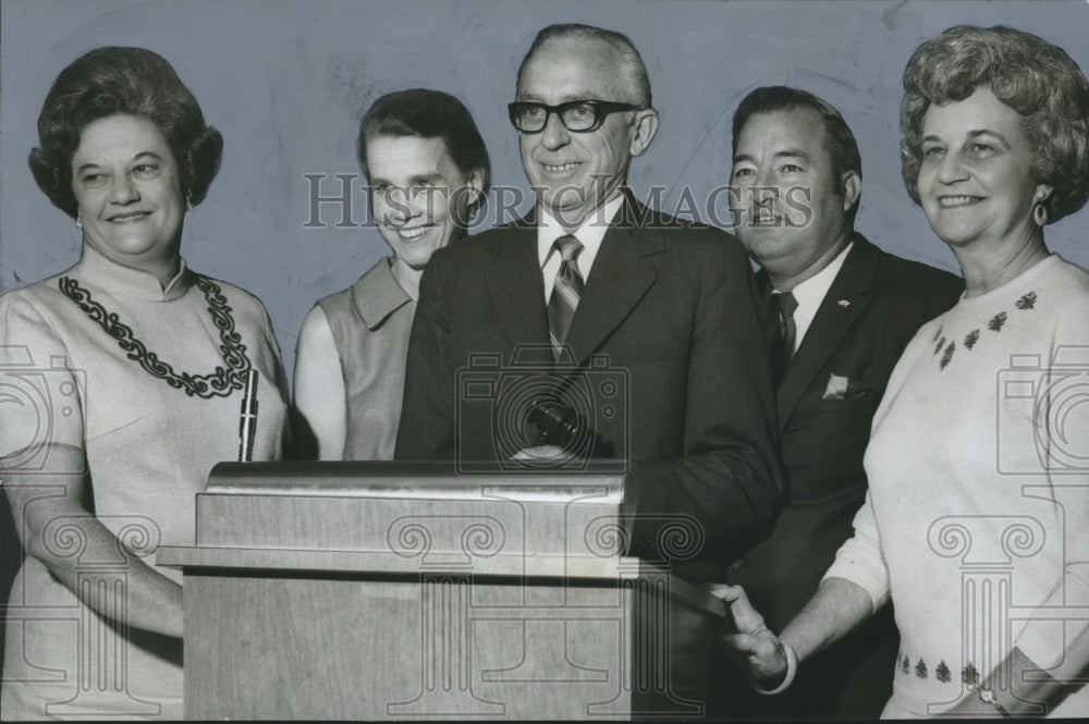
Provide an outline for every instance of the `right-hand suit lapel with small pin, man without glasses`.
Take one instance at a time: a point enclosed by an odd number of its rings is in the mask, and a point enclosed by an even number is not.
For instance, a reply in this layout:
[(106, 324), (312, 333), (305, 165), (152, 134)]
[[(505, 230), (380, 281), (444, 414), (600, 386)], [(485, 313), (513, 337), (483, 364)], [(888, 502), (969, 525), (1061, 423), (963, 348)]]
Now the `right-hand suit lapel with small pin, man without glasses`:
[(855, 234), (855, 245), (843, 260), (840, 273), (824, 295), (817, 316), (802, 340), (802, 346), (786, 368), (776, 395), (780, 430), (786, 428), (794, 408), (805, 391), (828, 364), (843, 335), (866, 309), (877, 266), (877, 247), (861, 234)]

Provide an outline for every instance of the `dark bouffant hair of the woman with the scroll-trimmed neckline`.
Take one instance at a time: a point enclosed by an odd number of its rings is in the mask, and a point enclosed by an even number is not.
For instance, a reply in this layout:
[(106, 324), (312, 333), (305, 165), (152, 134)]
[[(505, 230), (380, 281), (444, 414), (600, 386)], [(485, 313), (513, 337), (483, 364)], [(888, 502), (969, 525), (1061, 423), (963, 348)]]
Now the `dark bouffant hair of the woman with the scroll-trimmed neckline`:
[(161, 56), (144, 48), (98, 48), (61, 71), (38, 115), (39, 148), (30, 151), (34, 180), (49, 200), (75, 218), (72, 157), (90, 123), (111, 115), (151, 121), (178, 162), (182, 194), (204, 200), (223, 154), (223, 137), (205, 125), (196, 98)]

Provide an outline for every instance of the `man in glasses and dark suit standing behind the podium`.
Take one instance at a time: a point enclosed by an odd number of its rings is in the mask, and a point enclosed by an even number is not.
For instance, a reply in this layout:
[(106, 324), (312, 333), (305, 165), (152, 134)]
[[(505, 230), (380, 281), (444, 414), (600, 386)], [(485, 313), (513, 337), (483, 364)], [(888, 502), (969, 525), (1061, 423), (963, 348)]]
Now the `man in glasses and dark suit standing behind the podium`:
[[(683, 575), (713, 579), (715, 556), (760, 535), (781, 491), (745, 251), (626, 191), (628, 163), (649, 147), (658, 113), (625, 36), (542, 30), (510, 114), (537, 205), (432, 257), (396, 457), (456, 456), (466, 469), (537, 454), (516, 397), (521, 382), (554, 371), (561, 390), (588, 393), (577, 412), (594, 432), (590, 456), (631, 461), (625, 498), (638, 515), (629, 552), (673, 553)], [(492, 388), (476, 384), (481, 368), (499, 378)], [(466, 370), (474, 384), (458, 389)]]

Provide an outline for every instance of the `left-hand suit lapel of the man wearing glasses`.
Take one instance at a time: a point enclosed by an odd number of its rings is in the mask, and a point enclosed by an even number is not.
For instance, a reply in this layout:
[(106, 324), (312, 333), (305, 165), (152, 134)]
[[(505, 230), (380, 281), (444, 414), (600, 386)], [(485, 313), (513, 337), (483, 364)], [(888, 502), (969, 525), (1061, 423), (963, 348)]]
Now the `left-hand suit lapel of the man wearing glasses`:
[[(531, 220), (511, 228), (497, 244), (485, 271), (495, 314), (512, 345), (543, 345), (547, 361), (548, 315), (544, 282), (537, 259), (537, 228)], [(506, 360), (510, 363), (510, 360)]]

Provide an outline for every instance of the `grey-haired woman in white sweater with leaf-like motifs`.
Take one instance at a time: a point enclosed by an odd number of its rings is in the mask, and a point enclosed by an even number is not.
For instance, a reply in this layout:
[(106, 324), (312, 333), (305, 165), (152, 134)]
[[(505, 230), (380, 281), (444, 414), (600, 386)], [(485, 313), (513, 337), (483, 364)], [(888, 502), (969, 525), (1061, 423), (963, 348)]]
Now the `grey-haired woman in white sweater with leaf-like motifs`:
[(869, 494), (780, 634), (722, 588), (727, 649), (767, 692), (892, 599), (884, 716), (1086, 715), (1089, 273), (1044, 225), (1089, 196), (1089, 83), (1044, 40), (958, 26), (904, 72), (903, 173), (965, 294), (919, 330), (866, 453)]

